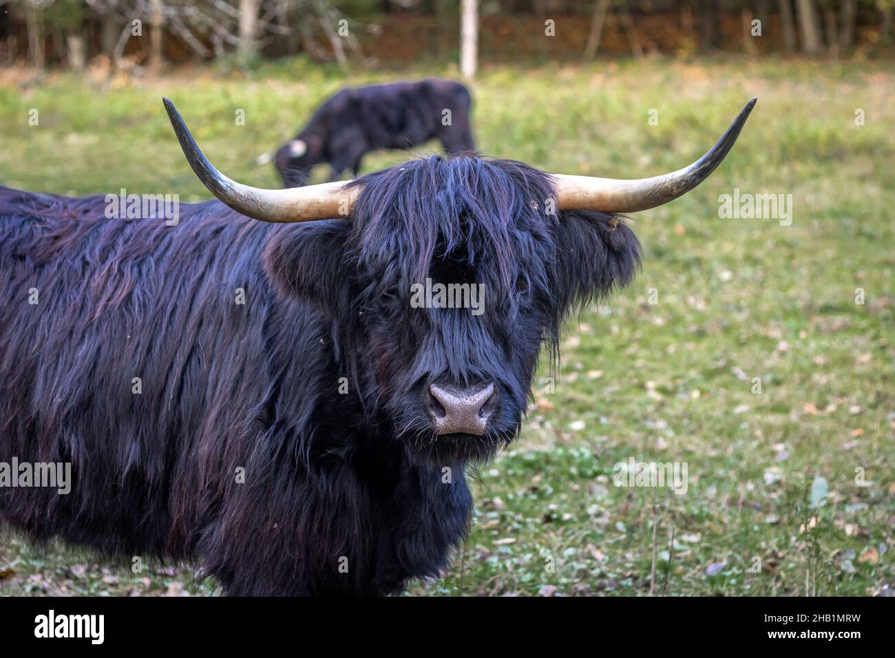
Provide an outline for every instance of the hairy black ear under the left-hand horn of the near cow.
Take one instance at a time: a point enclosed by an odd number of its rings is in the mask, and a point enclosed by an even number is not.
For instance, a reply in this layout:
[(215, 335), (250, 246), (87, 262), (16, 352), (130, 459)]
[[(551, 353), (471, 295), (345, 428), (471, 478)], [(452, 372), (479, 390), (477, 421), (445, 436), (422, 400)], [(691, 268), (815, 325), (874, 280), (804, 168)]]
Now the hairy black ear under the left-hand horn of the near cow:
[(345, 259), (350, 224), (331, 219), (275, 230), (262, 257), (274, 285), (284, 295), (312, 303), (328, 315), (346, 312), (353, 279)]

